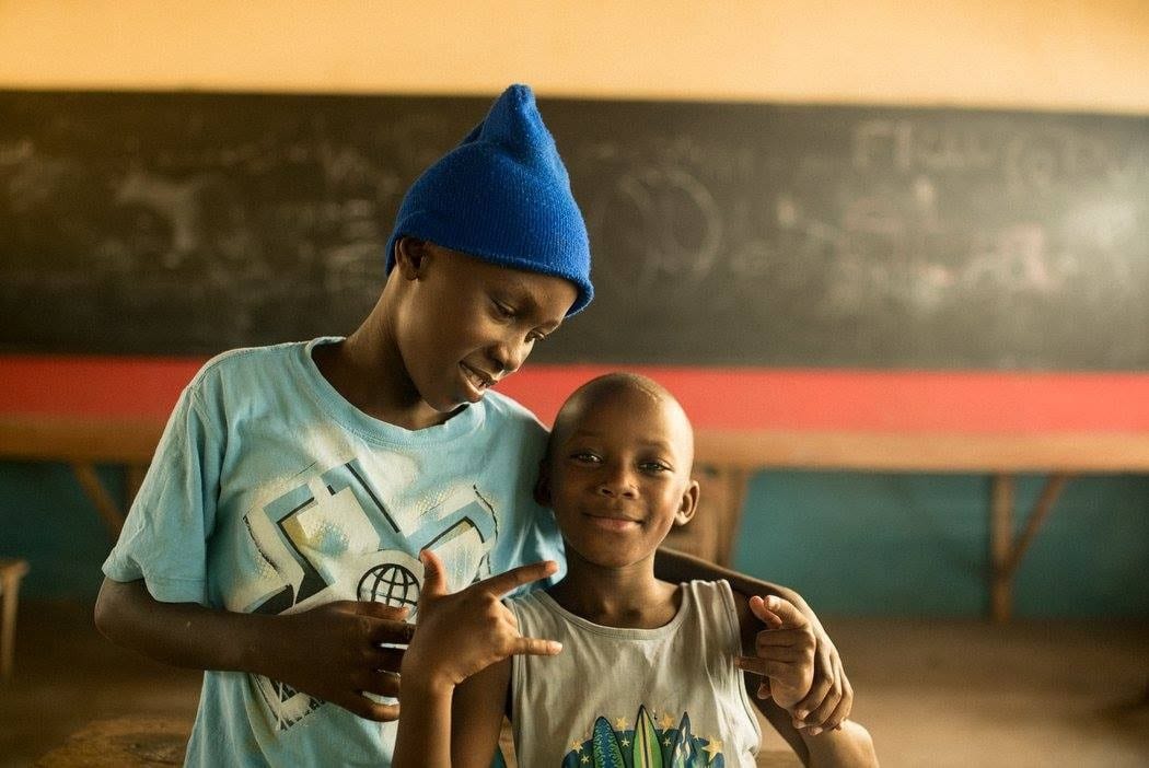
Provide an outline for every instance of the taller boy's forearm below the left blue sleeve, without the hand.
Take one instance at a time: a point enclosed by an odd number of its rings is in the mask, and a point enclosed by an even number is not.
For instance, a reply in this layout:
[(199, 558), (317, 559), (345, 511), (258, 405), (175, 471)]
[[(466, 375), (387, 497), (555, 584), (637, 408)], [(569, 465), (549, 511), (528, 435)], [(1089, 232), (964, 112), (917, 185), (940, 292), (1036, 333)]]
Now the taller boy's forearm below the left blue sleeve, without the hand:
[(99, 630), (117, 645), (176, 667), (265, 672), (275, 616), (231, 613), (194, 603), (161, 603), (142, 581), (105, 580)]

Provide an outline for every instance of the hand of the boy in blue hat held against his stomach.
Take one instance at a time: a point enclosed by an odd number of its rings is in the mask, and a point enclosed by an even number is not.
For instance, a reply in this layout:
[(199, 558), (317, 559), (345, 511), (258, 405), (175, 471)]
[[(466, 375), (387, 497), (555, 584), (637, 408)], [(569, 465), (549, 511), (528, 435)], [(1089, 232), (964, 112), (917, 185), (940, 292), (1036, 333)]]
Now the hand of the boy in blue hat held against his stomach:
[[(310, 611), (275, 616), (267, 674), (361, 717), (390, 721), (399, 705), (364, 696), (399, 696), (403, 649), (415, 631), (407, 608), (381, 603), (339, 600)], [(322, 651), (322, 652), (321, 652)]]

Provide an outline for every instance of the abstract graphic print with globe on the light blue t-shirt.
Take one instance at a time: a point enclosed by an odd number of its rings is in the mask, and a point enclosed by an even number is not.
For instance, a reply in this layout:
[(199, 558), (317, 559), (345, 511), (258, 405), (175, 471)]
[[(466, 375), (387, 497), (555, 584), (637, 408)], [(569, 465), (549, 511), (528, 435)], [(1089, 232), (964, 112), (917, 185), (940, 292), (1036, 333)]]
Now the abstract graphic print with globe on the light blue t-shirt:
[[(477, 488), (453, 489), (418, 514), (403, 514), (387, 509), (357, 459), (316, 474), (244, 521), (268, 573), (241, 610), (270, 614), (357, 599), (407, 606), (414, 620), (423, 582), (415, 556), (434, 550), (457, 590), (491, 575), (498, 536), (494, 509)], [(278, 681), (252, 680), (278, 730), (323, 705)]]

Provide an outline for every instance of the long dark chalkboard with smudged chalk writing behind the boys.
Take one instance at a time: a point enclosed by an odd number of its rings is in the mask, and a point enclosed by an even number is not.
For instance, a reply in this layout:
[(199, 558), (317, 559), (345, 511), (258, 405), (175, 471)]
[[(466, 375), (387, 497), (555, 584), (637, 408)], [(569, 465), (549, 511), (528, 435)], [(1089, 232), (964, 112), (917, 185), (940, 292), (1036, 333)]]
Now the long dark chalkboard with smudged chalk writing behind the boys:
[[(1149, 369), (1149, 117), (539, 103), (597, 298), (534, 360)], [(350, 332), (488, 104), (0, 92), (0, 350)]]

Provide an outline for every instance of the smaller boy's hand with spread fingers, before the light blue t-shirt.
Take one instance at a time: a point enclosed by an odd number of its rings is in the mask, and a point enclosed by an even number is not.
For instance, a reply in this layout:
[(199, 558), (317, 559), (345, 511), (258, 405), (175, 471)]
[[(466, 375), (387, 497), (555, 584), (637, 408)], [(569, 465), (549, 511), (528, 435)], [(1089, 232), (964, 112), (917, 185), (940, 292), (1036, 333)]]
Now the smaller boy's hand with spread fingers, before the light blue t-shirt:
[(555, 641), (523, 637), (515, 614), (501, 602), (518, 587), (553, 574), (555, 563), (512, 568), (452, 594), (439, 557), (424, 550), (419, 559), (423, 588), (415, 637), (403, 658), (404, 680), (449, 688), (510, 655), (555, 655), (562, 651)]

